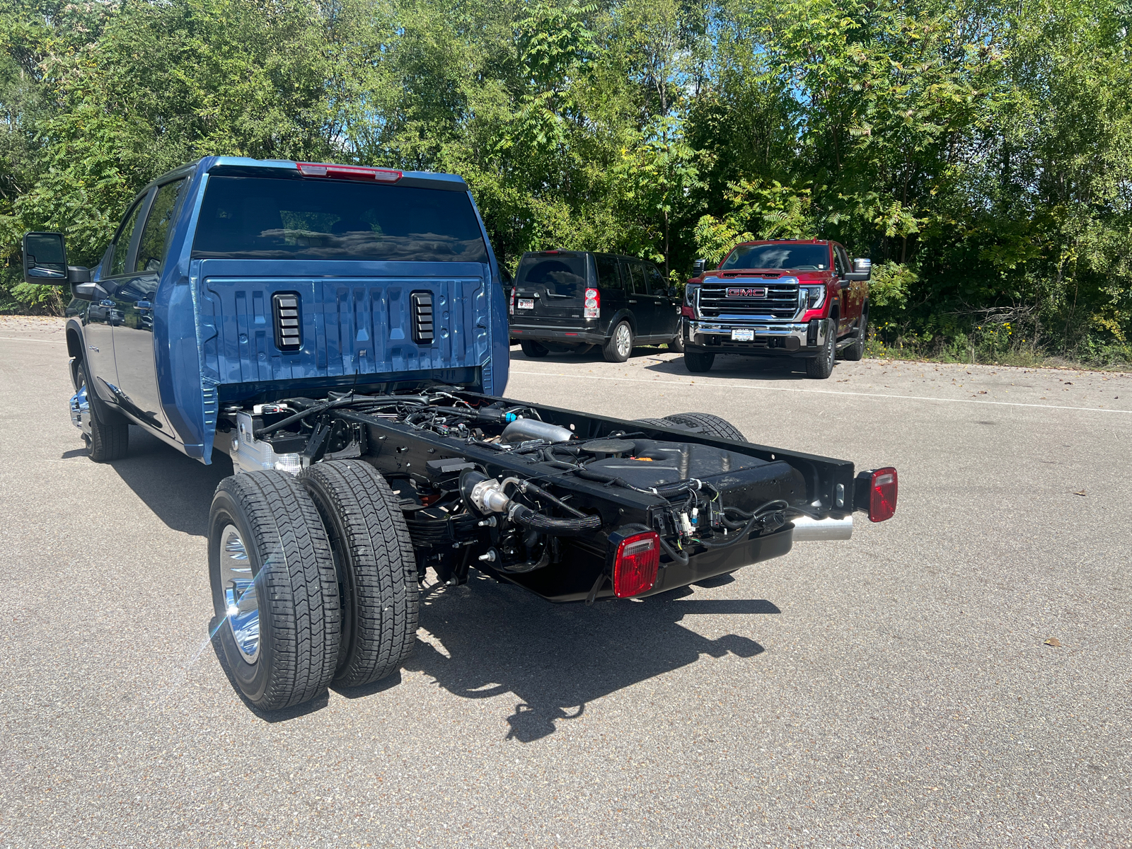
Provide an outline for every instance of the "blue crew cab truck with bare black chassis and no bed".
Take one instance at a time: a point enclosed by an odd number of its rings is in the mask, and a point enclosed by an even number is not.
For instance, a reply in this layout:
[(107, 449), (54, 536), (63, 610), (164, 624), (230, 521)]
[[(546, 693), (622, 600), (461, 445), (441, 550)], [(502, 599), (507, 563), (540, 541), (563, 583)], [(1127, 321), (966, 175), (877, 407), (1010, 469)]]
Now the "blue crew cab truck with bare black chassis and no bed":
[(211, 463), (214, 628), (263, 710), (393, 672), (432, 569), (556, 602), (646, 597), (848, 539), (897, 471), (754, 445), (706, 413), (624, 421), (503, 397), (500, 269), (449, 174), (206, 157), (145, 187), (69, 284), (71, 420)]

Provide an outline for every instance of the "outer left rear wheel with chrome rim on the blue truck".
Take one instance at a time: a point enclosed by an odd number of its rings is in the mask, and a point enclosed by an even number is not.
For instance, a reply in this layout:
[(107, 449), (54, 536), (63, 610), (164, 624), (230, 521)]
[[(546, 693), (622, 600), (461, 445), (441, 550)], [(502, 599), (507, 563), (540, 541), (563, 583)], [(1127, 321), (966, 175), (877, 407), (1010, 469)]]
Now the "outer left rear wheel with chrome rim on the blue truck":
[(216, 629), (245, 697), (264, 711), (307, 702), (334, 677), (341, 610), (326, 530), (290, 474), (216, 487), (208, 515)]

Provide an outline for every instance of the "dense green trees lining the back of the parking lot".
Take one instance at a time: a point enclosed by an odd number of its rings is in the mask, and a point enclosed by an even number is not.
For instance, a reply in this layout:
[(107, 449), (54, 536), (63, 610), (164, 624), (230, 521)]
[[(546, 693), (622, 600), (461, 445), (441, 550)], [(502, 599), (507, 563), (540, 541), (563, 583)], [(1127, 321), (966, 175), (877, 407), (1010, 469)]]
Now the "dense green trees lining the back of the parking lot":
[(205, 154), (452, 171), (500, 258), (674, 278), (834, 238), (921, 338), (1130, 355), (1132, 7), (1110, 0), (2, 0), (0, 306)]

